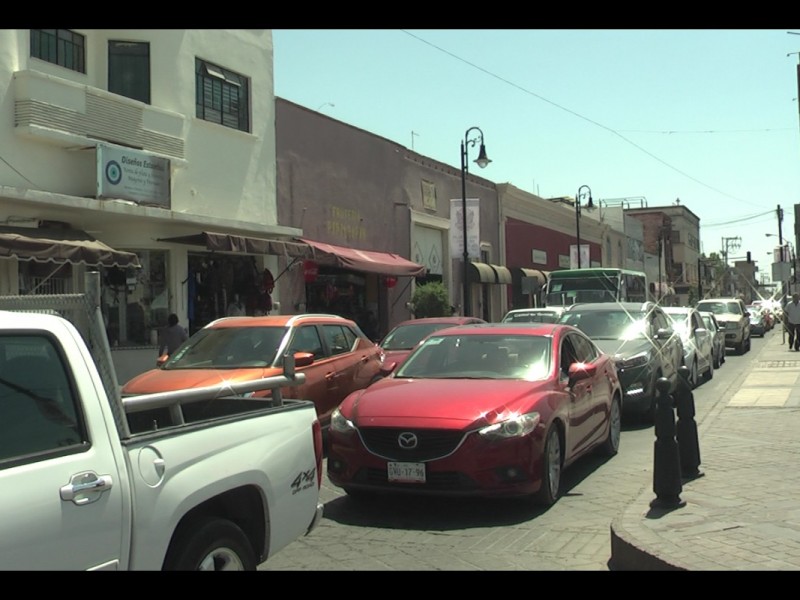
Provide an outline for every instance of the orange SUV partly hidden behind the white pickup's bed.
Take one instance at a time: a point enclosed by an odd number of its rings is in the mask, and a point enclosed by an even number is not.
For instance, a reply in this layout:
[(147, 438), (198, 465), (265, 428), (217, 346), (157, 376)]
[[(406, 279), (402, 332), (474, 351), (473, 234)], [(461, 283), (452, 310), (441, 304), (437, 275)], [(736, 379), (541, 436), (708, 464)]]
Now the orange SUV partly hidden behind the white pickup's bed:
[(349, 319), (320, 314), (226, 317), (192, 335), (159, 368), (128, 381), (122, 394), (281, 375), (287, 350), (295, 353), (297, 372), (304, 373), (306, 380), (283, 388), (283, 397), (311, 400), (326, 428), (331, 412), (350, 392), (383, 376), (383, 351)]

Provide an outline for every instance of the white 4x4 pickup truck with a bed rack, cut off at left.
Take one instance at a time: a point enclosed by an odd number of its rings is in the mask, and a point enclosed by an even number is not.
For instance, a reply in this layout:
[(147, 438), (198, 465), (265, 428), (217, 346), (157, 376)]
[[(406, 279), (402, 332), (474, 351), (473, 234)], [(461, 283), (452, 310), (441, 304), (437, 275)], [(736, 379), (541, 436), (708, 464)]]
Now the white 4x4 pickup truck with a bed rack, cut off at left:
[(291, 356), (281, 377), (123, 400), (85, 339), (0, 310), (0, 570), (256, 570), (316, 527), (322, 433), (280, 398)]

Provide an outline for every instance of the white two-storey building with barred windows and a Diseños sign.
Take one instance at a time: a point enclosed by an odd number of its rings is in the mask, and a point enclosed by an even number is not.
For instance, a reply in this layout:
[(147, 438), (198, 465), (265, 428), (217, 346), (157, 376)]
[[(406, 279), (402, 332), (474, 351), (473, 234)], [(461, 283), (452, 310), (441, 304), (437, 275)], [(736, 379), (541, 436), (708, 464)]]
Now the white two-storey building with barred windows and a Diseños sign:
[(272, 54), (270, 30), (0, 30), (0, 294), (82, 291), (99, 265), (109, 341), (147, 368), (170, 312), (268, 309), (302, 234), (277, 225)]

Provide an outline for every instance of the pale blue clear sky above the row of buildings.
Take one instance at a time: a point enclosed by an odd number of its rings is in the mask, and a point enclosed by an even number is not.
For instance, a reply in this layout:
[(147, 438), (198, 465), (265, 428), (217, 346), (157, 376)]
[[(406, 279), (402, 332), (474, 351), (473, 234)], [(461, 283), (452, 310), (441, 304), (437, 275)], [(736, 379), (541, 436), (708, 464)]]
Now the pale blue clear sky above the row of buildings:
[(700, 218), (701, 252), (749, 251), (767, 281), (778, 236), (794, 242), (800, 29), (272, 34), (276, 96), (457, 169), (477, 127), (492, 162), (481, 170), (469, 146), (470, 172), (495, 183), (679, 201)]

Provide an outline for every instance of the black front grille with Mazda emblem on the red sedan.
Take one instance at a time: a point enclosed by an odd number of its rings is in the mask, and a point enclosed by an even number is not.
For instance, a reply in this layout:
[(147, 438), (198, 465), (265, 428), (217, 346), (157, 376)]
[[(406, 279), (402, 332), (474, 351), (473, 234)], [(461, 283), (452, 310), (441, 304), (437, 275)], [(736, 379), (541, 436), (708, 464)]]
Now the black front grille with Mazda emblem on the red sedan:
[[(369, 452), (398, 462), (425, 462), (448, 456), (456, 451), (468, 435), (463, 431), (441, 429), (364, 427), (358, 431), (361, 442)], [(416, 445), (412, 448), (401, 446), (402, 434), (413, 434)]]

